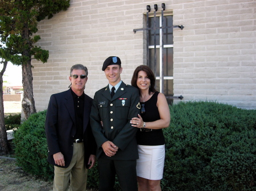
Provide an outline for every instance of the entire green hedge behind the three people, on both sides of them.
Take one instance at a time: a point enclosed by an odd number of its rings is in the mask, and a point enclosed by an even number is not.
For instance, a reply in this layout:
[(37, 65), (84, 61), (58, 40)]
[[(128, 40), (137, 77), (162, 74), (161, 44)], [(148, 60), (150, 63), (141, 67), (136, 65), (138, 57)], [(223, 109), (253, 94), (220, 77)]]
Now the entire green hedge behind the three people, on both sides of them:
[[(170, 113), (170, 127), (163, 130), (163, 191), (256, 189), (256, 110), (201, 101), (172, 105)], [(52, 179), (45, 118), (43, 111), (23, 122), (15, 133), (15, 154), (24, 171)], [(88, 171), (87, 185), (98, 188), (97, 164)]]

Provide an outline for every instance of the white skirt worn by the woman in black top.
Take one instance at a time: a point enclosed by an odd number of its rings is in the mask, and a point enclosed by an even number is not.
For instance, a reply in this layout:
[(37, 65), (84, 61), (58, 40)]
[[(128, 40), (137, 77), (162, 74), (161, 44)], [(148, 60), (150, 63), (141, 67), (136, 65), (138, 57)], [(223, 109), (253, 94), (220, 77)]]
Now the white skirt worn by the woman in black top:
[(148, 180), (161, 180), (163, 178), (164, 145), (145, 146), (138, 145), (139, 159), (137, 159), (137, 176)]

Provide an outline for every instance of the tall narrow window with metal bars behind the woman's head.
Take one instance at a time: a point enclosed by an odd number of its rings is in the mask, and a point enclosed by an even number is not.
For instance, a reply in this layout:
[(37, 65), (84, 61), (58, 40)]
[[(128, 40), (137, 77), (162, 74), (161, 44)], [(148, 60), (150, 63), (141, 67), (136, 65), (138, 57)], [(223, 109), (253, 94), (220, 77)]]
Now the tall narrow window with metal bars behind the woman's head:
[(167, 96), (169, 104), (172, 103), (173, 99), (168, 98), (168, 96), (174, 96), (174, 40), (173, 28), (165, 27), (171, 26), (173, 26), (172, 12), (166, 11), (163, 17), (162, 14), (156, 15), (156, 17), (151, 13), (148, 15), (148, 28), (151, 29), (147, 33), (147, 64), (155, 74), (156, 90)]

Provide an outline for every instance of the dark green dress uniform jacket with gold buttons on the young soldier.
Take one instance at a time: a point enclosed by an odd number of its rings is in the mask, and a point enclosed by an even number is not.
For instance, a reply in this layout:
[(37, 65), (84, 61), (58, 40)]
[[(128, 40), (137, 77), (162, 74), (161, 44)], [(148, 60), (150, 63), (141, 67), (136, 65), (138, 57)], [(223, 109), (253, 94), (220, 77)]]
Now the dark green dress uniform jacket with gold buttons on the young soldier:
[[(113, 98), (110, 96), (109, 86), (98, 90), (93, 99), (90, 113), (90, 124), (97, 143), (97, 158), (103, 152), (101, 145), (112, 141), (118, 146), (117, 153), (112, 160), (136, 160), (138, 148), (136, 141), (137, 128), (131, 126), (130, 120), (138, 117), (140, 112), (139, 90), (133, 86), (121, 83)], [(102, 120), (103, 126), (100, 121)]]

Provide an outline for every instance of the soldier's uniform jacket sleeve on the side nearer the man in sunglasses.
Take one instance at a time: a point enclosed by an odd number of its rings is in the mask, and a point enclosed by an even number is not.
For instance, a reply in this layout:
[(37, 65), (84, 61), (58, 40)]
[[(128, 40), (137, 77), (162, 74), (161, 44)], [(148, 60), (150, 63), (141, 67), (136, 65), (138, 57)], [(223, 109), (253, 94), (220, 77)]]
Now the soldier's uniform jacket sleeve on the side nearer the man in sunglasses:
[(92, 133), (94, 135), (98, 148), (100, 148), (103, 143), (108, 141), (108, 139), (104, 136), (102, 132), (100, 121), (101, 117), (97, 108), (97, 95), (95, 94), (92, 104), (92, 111), (90, 112), (90, 126), (92, 127)]

